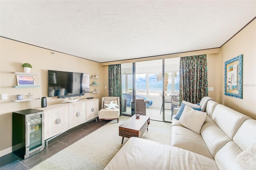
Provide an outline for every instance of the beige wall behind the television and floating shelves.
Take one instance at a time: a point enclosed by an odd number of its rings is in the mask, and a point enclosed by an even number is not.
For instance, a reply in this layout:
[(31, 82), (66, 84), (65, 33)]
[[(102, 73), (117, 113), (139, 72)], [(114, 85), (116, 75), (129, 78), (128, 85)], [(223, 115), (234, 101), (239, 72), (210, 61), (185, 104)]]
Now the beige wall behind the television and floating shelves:
[[(100, 84), (100, 86), (97, 86), (100, 93), (85, 94), (81, 98), (92, 96), (101, 99), (104, 92), (102, 86), (104, 79), (103, 66), (100, 63), (58, 52), (52, 55), (50, 50), (2, 37), (0, 38), (0, 43), (0, 94), (8, 94), (8, 100), (0, 100), (0, 150), (12, 147), (12, 111), (41, 107), (40, 100), (18, 103), (14, 103), (12, 100), (16, 100), (17, 94), (26, 95), (29, 92), (33, 94), (34, 98), (47, 97), (47, 70), (84, 72), (90, 73), (90, 75), (98, 74), (100, 79), (96, 81)], [(31, 72), (40, 74), (35, 76), (36, 85), (40, 85), (40, 88), (12, 88), (12, 86), (17, 85), (16, 75), (12, 74), (12, 72), (23, 72), (23, 63), (32, 64)], [(90, 80), (91, 83), (92, 80)], [(90, 90), (93, 89), (94, 87), (90, 88)], [(63, 101), (64, 99), (58, 99), (57, 97), (47, 98), (48, 105)]]

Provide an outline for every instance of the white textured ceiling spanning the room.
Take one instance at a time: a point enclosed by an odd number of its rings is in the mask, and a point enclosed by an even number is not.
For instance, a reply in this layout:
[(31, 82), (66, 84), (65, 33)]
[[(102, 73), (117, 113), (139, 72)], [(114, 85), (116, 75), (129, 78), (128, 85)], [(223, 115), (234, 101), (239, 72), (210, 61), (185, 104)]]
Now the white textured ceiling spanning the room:
[(98, 62), (220, 47), (256, 1), (3, 1), (0, 35)]

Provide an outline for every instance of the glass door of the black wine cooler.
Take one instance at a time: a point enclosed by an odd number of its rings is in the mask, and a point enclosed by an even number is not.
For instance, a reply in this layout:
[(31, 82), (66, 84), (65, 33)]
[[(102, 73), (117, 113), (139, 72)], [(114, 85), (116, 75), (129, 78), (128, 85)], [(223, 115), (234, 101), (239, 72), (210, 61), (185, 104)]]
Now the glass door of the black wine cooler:
[(26, 115), (26, 155), (44, 148), (44, 113)]

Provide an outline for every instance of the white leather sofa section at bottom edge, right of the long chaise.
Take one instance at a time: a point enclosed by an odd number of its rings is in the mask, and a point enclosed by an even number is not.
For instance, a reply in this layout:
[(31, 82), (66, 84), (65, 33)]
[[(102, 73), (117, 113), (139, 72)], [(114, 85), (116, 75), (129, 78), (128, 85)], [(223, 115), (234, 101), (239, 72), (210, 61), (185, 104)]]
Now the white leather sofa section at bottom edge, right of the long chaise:
[(171, 170), (218, 170), (214, 160), (185, 149), (172, 147)]

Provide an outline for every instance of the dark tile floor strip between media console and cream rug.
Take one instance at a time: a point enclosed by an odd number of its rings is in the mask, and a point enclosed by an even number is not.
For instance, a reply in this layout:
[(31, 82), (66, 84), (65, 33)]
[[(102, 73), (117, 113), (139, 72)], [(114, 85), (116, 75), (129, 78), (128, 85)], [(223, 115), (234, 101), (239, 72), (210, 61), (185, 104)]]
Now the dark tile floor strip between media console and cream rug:
[(26, 158), (22, 159), (16, 156), (14, 153), (9, 153), (4, 156), (0, 157), (0, 169), (1, 170), (27, 170), (36, 166), (40, 162), (46, 160), (50, 156), (56, 154), (62, 149), (65, 149), (72, 143), (82, 139), (86, 135), (89, 135), (93, 131), (97, 130), (98, 128), (106, 125), (106, 123), (110, 122), (111, 120), (104, 120), (102, 123), (98, 123), (95, 120), (88, 121), (68, 131), (65, 131), (61, 135), (55, 137), (54, 139), (48, 141), (48, 146), (44, 147), (44, 150), (41, 152)]

